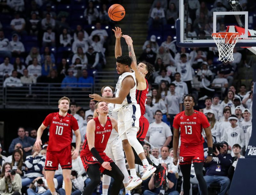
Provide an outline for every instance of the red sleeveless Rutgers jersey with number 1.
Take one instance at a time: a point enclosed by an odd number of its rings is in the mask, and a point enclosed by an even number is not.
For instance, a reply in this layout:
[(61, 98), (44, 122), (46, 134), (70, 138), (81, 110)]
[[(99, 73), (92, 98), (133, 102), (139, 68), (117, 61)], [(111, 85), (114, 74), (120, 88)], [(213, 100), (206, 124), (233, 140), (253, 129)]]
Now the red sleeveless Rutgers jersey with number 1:
[[(94, 147), (99, 153), (102, 153), (106, 149), (108, 138), (112, 131), (112, 123), (110, 121), (110, 118), (108, 117), (105, 127), (102, 127), (98, 117), (94, 118), (93, 120), (95, 121)], [(86, 135), (83, 144), (83, 149), (83, 153), (91, 153), (87, 143)]]

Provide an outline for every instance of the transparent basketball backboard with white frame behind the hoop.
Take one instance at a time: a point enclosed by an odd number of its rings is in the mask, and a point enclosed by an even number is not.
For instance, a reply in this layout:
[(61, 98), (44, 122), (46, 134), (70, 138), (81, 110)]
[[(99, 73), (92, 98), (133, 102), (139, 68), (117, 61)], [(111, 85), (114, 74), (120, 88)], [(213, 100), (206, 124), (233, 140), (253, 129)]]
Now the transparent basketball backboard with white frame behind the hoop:
[[(240, 32), (241, 36), (236, 46), (256, 46), (256, 31), (252, 30), (254, 23), (256, 24), (255, 13), (250, 14), (243, 11), (242, 5), (239, 5), (239, 10), (234, 10), (228, 0), (222, 0), (222, 3), (220, 0), (216, 0), (212, 4), (205, 1), (204, 9), (202, 3), (199, 5), (199, 9), (196, 9), (198, 7), (198, 3), (195, 4), (196, 1), (190, 1), (193, 2), (190, 5), (188, 2), (189, 0), (179, 1), (179, 19), (176, 21), (177, 46), (216, 47), (211, 36), (212, 33), (226, 32), (228, 26), (231, 26), (228, 28), (228, 32), (237, 32), (234, 26), (243, 27), (244, 32)], [(237, 3), (238, 1), (232, 2)], [(200, 7), (202, 8), (200, 9)]]

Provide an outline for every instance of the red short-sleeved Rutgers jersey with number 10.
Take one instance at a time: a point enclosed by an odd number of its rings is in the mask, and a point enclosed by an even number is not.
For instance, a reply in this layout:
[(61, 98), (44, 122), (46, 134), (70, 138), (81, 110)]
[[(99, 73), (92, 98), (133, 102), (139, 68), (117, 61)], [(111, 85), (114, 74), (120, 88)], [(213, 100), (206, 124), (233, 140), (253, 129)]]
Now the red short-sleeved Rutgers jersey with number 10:
[(79, 129), (76, 118), (68, 113), (66, 116), (60, 116), (59, 112), (51, 113), (46, 116), (43, 124), (46, 127), (50, 125), (47, 151), (60, 151), (71, 145), (72, 129)]

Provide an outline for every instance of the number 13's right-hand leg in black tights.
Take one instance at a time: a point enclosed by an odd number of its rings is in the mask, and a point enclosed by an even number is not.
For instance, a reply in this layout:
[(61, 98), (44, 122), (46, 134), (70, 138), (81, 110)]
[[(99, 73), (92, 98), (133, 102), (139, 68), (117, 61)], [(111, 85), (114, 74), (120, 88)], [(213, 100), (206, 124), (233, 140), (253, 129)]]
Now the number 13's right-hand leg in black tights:
[(207, 184), (204, 180), (204, 175), (203, 175), (204, 163), (203, 162), (200, 162), (200, 163), (195, 162), (193, 164), (194, 164), (194, 168), (195, 168), (196, 179), (198, 180), (199, 188), (202, 191), (201, 194), (208, 195), (208, 188), (207, 188)]

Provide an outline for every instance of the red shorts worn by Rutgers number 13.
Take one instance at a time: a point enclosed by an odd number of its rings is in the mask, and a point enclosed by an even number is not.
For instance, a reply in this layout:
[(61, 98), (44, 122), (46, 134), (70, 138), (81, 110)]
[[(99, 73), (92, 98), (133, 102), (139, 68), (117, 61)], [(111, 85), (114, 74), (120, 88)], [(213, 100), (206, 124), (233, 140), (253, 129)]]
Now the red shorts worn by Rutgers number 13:
[(204, 162), (204, 147), (200, 145), (180, 146), (180, 165)]

